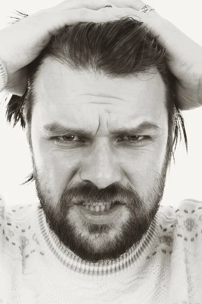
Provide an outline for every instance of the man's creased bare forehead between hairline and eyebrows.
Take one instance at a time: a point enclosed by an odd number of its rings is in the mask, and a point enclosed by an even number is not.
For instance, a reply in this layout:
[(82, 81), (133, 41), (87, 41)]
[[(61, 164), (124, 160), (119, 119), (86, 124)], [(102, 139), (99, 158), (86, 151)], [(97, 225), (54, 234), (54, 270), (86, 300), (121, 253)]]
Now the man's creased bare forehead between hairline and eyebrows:
[(81, 124), (89, 115), (107, 111), (117, 120), (144, 117), (165, 123), (165, 87), (158, 73), (110, 79), (104, 74), (73, 71), (46, 59), (35, 83), (38, 122)]

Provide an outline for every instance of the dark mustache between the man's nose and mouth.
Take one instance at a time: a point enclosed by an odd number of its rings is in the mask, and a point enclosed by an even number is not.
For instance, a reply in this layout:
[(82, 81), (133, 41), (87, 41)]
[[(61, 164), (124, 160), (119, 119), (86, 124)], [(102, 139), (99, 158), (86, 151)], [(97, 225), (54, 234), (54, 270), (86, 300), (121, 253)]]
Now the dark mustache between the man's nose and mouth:
[(76, 182), (66, 188), (59, 201), (68, 205), (111, 202), (126, 204), (128, 201), (141, 200), (138, 193), (131, 185), (123, 186), (120, 182), (113, 183), (104, 189), (98, 189), (92, 183)]

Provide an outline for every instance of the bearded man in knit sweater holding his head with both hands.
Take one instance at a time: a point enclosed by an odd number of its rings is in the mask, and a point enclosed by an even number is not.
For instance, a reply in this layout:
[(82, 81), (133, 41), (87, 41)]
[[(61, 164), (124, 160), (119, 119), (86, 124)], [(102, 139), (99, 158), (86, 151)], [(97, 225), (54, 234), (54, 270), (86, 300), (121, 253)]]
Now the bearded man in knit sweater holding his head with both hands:
[(1, 79), (39, 202), (2, 198), (1, 302), (201, 303), (202, 203), (160, 206), (201, 47), (140, 0), (24, 17), (0, 32)]

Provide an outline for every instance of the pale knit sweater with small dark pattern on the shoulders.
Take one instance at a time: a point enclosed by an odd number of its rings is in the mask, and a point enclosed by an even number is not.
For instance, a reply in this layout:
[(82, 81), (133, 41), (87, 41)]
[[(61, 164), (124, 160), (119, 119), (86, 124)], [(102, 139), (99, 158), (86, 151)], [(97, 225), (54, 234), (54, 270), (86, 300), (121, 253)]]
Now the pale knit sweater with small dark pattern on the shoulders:
[(105, 263), (60, 245), (39, 206), (0, 196), (0, 303), (202, 304), (202, 202), (161, 205), (139, 245)]

